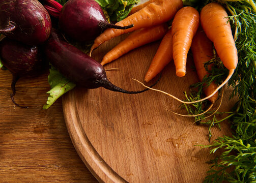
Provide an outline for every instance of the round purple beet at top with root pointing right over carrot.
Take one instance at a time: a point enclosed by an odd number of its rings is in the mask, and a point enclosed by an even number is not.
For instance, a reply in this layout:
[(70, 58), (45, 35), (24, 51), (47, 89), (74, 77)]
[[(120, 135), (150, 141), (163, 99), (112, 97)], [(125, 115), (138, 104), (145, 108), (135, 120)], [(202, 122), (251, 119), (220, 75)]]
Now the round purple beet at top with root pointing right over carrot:
[(133, 25), (118, 26), (106, 21), (100, 5), (94, 0), (69, 0), (59, 17), (60, 28), (76, 41), (91, 41), (106, 28), (126, 29)]

